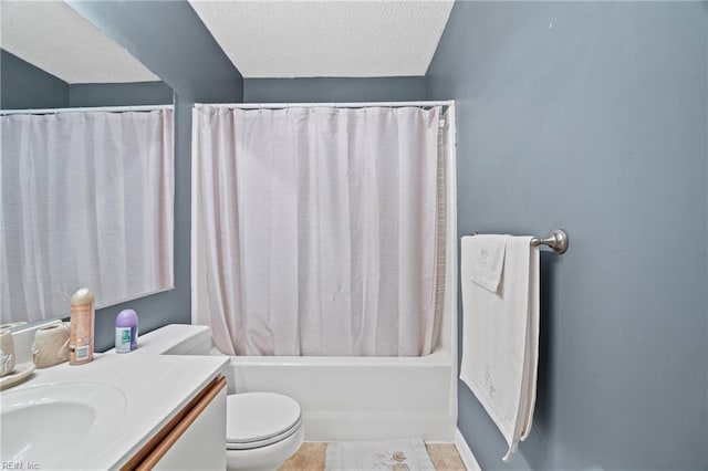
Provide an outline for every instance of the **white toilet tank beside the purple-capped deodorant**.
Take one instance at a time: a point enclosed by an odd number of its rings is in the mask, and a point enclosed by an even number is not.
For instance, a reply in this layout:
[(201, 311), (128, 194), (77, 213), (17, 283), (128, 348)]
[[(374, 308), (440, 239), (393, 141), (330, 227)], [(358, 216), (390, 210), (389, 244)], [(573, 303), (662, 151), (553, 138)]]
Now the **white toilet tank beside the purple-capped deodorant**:
[(169, 324), (138, 335), (132, 355), (209, 355), (211, 329), (206, 325)]

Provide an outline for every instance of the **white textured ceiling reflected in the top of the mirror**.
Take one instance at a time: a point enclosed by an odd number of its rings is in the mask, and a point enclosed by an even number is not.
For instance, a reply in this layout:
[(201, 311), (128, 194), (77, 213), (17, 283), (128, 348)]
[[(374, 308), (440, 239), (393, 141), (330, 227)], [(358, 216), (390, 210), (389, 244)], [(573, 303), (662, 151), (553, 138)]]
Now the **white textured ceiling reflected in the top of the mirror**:
[(0, 17), (0, 46), (66, 83), (159, 80), (61, 0), (1, 0)]

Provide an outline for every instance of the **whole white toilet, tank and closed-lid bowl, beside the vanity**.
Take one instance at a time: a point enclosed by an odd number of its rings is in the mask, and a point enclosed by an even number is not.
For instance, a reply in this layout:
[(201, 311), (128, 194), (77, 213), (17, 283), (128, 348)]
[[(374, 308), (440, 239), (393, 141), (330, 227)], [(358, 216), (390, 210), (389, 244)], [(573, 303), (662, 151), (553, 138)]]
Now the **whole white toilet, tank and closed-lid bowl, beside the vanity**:
[[(201, 325), (173, 324), (138, 338), (131, 353), (208, 355), (211, 331)], [(239, 393), (227, 397), (226, 463), (228, 470), (275, 470), (304, 439), (300, 405), (275, 393)]]

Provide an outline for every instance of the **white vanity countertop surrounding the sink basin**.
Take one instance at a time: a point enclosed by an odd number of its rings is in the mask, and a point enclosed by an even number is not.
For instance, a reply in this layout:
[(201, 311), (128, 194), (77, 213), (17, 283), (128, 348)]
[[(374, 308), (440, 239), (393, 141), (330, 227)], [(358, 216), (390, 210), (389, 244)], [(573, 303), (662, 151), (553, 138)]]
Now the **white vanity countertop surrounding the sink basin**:
[[(94, 383), (117, 389), (124, 398), (121, 405), (124, 410), (107, 435), (105, 431), (88, 433), (76, 441), (75, 447), (67, 447), (52, 465), (31, 463), (31, 460), (25, 463), (37, 464), (35, 469), (117, 469), (222, 374), (227, 364), (228, 357), (217, 356), (96, 354), (87, 364), (64, 363), (37, 369), (22, 385), (0, 393), (0, 400), (8, 399), (9, 395), (18, 397), (29, 388), (59, 383)], [(12, 430), (3, 427), (2, 433), (12, 433)]]

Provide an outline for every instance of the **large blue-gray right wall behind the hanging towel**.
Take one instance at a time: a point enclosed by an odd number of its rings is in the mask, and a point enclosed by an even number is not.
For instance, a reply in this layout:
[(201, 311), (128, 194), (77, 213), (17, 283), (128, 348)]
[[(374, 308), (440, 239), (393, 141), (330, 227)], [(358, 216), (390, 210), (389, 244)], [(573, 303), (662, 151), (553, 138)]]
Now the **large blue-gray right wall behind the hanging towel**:
[(460, 234), (571, 238), (543, 258), (538, 406), (512, 463), (459, 385), (485, 470), (708, 469), (707, 10), (452, 10), (427, 97), (458, 103)]

